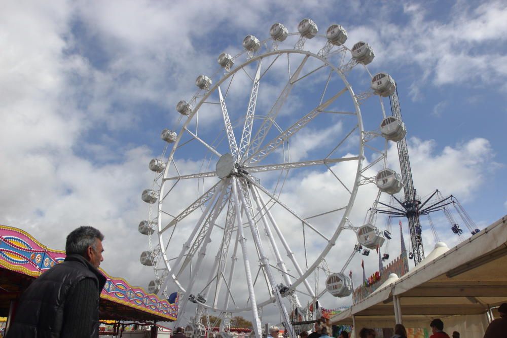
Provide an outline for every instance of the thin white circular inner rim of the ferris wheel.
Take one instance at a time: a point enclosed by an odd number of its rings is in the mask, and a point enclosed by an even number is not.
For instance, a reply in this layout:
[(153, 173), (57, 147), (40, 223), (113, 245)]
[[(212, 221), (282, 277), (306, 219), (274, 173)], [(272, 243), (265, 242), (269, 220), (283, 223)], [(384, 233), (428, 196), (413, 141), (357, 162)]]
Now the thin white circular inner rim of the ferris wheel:
[[(197, 111), (199, 110), (199, 108), (201, 107), (201, 105), (211, 95), (211, 93), (216, 92), (216, 90), (219, 88), (219, 86), (222, 83), (224, 83), (227, 79), (229, 79), (236, 72), (240, 71), (242, 68), (246, 67), (247, 65), (249, 65), (251, 63), (254, 63), (256, 61), (262, 60), (265, 57), (269, 57), (269, 56), (277, 55), (277, 54), (278, 55), (283, 55), (283, 54), (288, 54), (288, 55), (289, 54), (308, 55), (308, 56), (311, 56), (313, 58), (316, 58), (316, 59), (320, 60), (323, 64), (325, 64), (325, 65), (329, 66), (331, 69), (333, 69), (334, 73), (336, 73), (336, 74), (338, 74), (340, 76), (342, 82), (344, 83), (345, 87), (347, 88), (347, 91), (349, 92), (349, 95), (351, 95), (351, 99), (353, 101), (354, 109), (355, 109), (355, 116), (356, 116), (356, 118), (358, 120), (357, 121), (358, 128), (359, 128), (358, 132), (361, 135), (361, 137), (359, 137), (359, 141), (358, 141), (358, 143), (359, 143), (358, 144), (359, 145), (359, 154), (358, 154), (358, 159), (357, 159), (358, 163), (357, 163), (356, 175), (355, 175), (355, 179), (354, 179), (354, 186), (353, 186), (353, 189), (352, 189), (351, 196), (349, 197), (349, 201), (347, 203), (345, 213), (342, 216), (342, 218), (340, 220), (340, 223), (339, 223), (337, 229), (335, 230), (333, 236), (331, 236), (330, 241), (323, 248), (323, 250), (322, 250), (321, 254), (318, 256), (318, 258), (313, 262), (313, 264), (311, 266), (309, 266), (306, 269), (306, 272), (301, 277), (299, 277), (297, 280), (295, 280), (294, 283), (290, 286), (290, 289), (294, 290), (299, 284), (301, 284), (303, 282), (304, 279), (306, 279), (311, 273), (313, 273), (313, 271), (320, 264), (321, 259), (323, 257), (325, 257), (329, 253), (329, 251), (331, 250), (331, 248), (335, 245), (335, 241), (336, 241), (336, 239), (338, 238), (338, 236), (339, 236), (339, 234), (341, 232), (341, 228), (343, 227), (343, 224), (345, 223), (345, 218), (350, 213), (351, 207), (352, 207), (352, 205), (353, 205), (353, 203), (355, 201), (355, 197), (356, 197), (358, 186), (359, 186), (358, 181), (359, 181), (359, 178), (360, 178), (360, 172), (361, 172), (361, 168), (362, 168), (362, 164), (363, 164), (363, 160), (364, 160), (364, 143), (365, 142), (364, 142), (364, 139), (362, 137), (363, 132), (364, 132), (363, 118), (361, 116), (359, 103), (358, 103), (357, 98), (355, 97), (355, 94), (354, 94), (354, 91), (352, 89), (352, 86), (348, 82), (346, 76), (343, 74), (343, 72), (338, 67), (336, 67), (328, 59), (326, 59), (326, 58), (324, 58), (324, 57), (322, 57), (320, 55), (317, 55), (317, 54), (312, 53), (310, 51), (297, 50), (297, 49), (284, 49), (284, 50), (268, 51), (268, 52), (262, 53), (260, 55), (257, 55), (255, 57), (253, 57), (253, 58), (251, 58), (251, 59), (249, 59), (249, 60), (241, 63), (240, 65), (234, 67), (234, 69), (232, 69), (229, 73), (227, 73), (224, 77), (222, 77), (220, 79), (220, 81), (218, 81), (213, 87), (211, 87), (207, 91), (207, 93), (200, 98), (199, 102), (192, 109), (191, 114), (189, 114), (189, 116), (187, 118), (187, 121), (184, 123), (184, 125), (180, 129), (180, 132), (177, 135), (177, 139), (175, 140), (175, 142), (174, 142), (174, 144), (172, 146), (170, 155), (168, 156), (167, 165), (166, 165), (166, 168), (164, 170), (163, 177), (165, 177), (167, 175), (167, 173), (168, 173), (168, 170), (169, 170), (169, 167), (171, 165), (171, 162), (173, 161), (174, 154), (176, 152), (177, 146), (179, 144), (180, 139), (182, 138), (182, 136), (184, 134), (185, 129), (188, 127), (188, 125), (193, 120), (193, 117), (195, 116), (195, 114), (197, 113)], [(165, 187), (165, 182), (162, 184), (162, 186), (160, 188), (160, 193), (159, 193), (160, 197), (162, 197), (163, 194), (165, 193), (164, 187)], [(157, 210), (158, 211), (157, 212), (157, 214), (158, 214), (157, 222), (158, 222), (158, 237), (159, 237), (160, 247), (164, 248), (165, 247), (165, 243), (164, 243), (165, 241), (164, 241), (164, 238), (163, 238), (163, 233), (161, 232), (161, 230), (162, 230), (162, 223), (161, 223), (161, 217), (160, 217), (161, 216), (161, 210), (162, 210), (162, 203), (163, 203), (162, 202), (162, 198), (159, 198), (158, 210)], [(168, 260), (168, 257), (166, 255), (165, 251), (166, 250), (161, 249), (162, 258), (164, 260), (165, 267), (167, 268), (167, 270), (169, 272), (169, 275), (173, 276), (173, 272), (172, 272), (171, 267), (169, 265), (169, 260)], [(186, 293), (186, 288), (183, 285), (181, 285), (179, 283), (179, 281), (177, 281), (177, 279), (175, 277), (172, 278), (172, 276), (170, 276), (170, 278), (175, 282), (175, 284), (177, 285), (177, 287), (179, 288), (179, 290), (182, 291), (183, 293)], [(258, 307), (264, 307), (264, 306), (266, 306), (268, 304), (271, 304), (273, 302), (274, 302), (274, 296), (271, 296), (268, 299), (266, 299), (266, 301), (259, 303), (257, 306)], [(251, 307), (246, 307), (246, 308), (241, 308), (241, 309), (219, 309), (219, 308), (214, 308), (212, 306), (209, 306), (207, 304), (200, 303), (200, 302), (199, 302), (199, 305), (202, 306), (202, 307), (204, 307), (204, 308), (208, 308), (208, 309), (211, 309), (211, 310), (214, 310), (214, 311), (227, 311), (227, 312), (233, 312), (233, 313), (243, 312), (243, 311), (247, 311), (247, 310), (251, 309)]]

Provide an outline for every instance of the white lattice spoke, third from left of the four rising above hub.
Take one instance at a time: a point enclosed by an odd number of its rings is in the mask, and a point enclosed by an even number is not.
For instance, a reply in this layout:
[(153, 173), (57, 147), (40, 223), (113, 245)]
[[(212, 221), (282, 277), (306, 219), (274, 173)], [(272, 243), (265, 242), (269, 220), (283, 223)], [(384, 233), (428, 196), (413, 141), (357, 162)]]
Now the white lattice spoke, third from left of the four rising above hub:
[[(287, 54), (288, 56), (288, 54)], [(268, 112), (268, 115), (266, 119), (263, 121), (261, 127), (257, 131), (256, 135), (253, 137), (253, 140), (250, 142), (248, 147), (246, 148), (245, 153), (250, 151), (256, 153), (258, 148), (262, 145), (264, 142), (264, 139), (266, 138), (269, 130), (271, 129), (271, 126), (273, 125), (273, 121), (278, 116), (278, 113), (280, 112), (281, 108), (285, 104), (285, 101), (288, 98), (288, 95), (291, 93), (292, 88), (294, 87), (293, 82), (296, 81), (299, 77), (299, 74), (303, 70), (303, 66), (305, 65), (306, 61), (308, 60), (309, 55), (306, 55), (303, 58), (303, 61), (298, 66), (298, 69), (294, 72), (291, 79), (289, 79), (288, 83), (285, 85), (285, 88), (283, 88), (282, 92), (278, 96), (278, 99), (276, 100), (275, 104), (273, 104), (273, 107), (271, 107), (271, 110)]]

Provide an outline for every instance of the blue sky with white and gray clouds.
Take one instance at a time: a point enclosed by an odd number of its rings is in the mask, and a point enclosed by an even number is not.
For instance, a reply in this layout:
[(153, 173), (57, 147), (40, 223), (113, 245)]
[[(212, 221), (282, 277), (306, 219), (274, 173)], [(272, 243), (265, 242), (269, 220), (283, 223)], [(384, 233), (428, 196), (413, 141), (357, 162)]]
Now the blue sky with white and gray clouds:
[[(105, 235), (101, 267), (133, 285), (147, 286), (154, 277), (150, 267), (139, 264), (140, 252), (149, 246), (137, 231), (148, 216), (140, 194), (154, 179), (149, 161), (160, 157), (165, 146), (161, 130), (180, 130), (184, 123), (176, 103), (192, 98), (199, 74), (213, 74), (216, 83), (224, 74), (216, 58), (224, 51), (241, 52), (245, 35), (268, 39), (275, 22), (296, 32), (303, 18), (313, 19), (319, 33), (332, 23), (341, 24), (349, 48), (368, 42), (375, 51), (368, 65), (372, 74), (385, 71), (396, 81), (418, 194), (435, 189), (453, 194), (480, 229), (507, 213), (503, 2), (7, 1), (0, 13), (0, 223), (23, 229), (55, 249), (64, 248), (71, 230), (96, 227)], [(308, 40), (304, 49), (316, 53), (322, 41)], [(244, 61), (243, 54), (235, 66)], [(255, 73), (251, 66), (246, 69)], [(368, 91), (368, 74), (355, 70), (349, 75), (355, 92)], [(260, 110), (269, 109), (284, 85), (277, 78), (281, 67), (275, 64), (271, 71), (260, 87)], [(228, 102), (234, 111), (240, 106), (232, 98), (247, 99), (251, 87), (245, 85), (246, 77), (238, 79), (238, 90), (231, 91)], [(306, 91), (290, 97), (280, 121), (291, 121), (293, 110), (315, 106), (318, 92), (312, 81)], [(383, 102), (389, 114), (389, 101)], [(369, 109), (370, 101), (361, 104), (365, 129), (374, 130), (381, 117)], [(371, 109), (378, 113), (378, 104)], [(223, 134), (223, 122), (216, 110), (208, 110), (201, 109), (199, 126), (200, 135), (211, 140)], [(327, 123), (295, 136), (292, 161), (318, 158), (322, 148), (331, 146), (328, 140), (347, 127), (346, 122)], [(177, 158), (187, 173), (198, 169), (204, 156), (194, 143)], [(357, 148), (344, 151), (357, 154)], [(388, 166), (399, 170), (392, 142), (388, 154)], [(374, 159), (365, 155), (366, 163)], [(310, 206), (299, 205), (300, 197), (316, 200), (333, 184), (336, 180), (329, 175), (301, 171), (289, 176), (281, 196), (311, 214)], [(194, 190), (192, 194), (176, 200), (185, 204), (197, 197)], [(354, 224), (363, 221), (375, 195), (372, 184), (358, 193), (350, 214)], [(443, 215), (433, 216), (433, 222), (449, 246), (459, 243)], [(435, 240), (427, 220), (422, 224), (429, 252)], [(341, 242), (326, 258), (332, 271), (341, 269), (354, 238), (350, 232), (340, 235)], [(399, 252), (397, 243), (390, 248)], [(367, 273), (378, 266), (375, 255), (354, 257), (350, 268), (355, 282), (360, 282), (361, 259)], [(326, 302), (334, 308), (350, 304), (350, 298)]]

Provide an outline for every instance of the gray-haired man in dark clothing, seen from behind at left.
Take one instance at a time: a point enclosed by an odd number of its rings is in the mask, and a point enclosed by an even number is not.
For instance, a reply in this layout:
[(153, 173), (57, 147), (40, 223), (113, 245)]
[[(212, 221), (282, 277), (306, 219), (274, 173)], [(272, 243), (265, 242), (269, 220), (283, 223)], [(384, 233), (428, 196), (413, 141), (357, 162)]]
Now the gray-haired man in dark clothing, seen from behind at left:
[(65, 260), (25, 290), (6, 338), (98, 338), (103, 239), (92, 227), (68, 234)]

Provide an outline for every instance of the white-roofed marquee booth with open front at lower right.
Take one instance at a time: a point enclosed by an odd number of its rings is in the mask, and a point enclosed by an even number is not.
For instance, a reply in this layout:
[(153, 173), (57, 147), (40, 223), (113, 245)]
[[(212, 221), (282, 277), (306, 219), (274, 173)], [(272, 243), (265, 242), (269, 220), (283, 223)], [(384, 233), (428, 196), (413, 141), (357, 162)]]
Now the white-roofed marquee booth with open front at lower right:
[(431, 335), (431, 320), (440, 318), (448, 334), (482, 337), (498, 317), (495, 308), (507, 302), (506, 223), (507, 215), (453, 248), (437, 243), (403, 276), (389, 273), (377, 285), (361, 285), (352, 307), (331, 322), (354, 325), (355, 336), (362, 327), (386, 336), (395, 323), (402, 323), (409, 337), (425, 338)]

